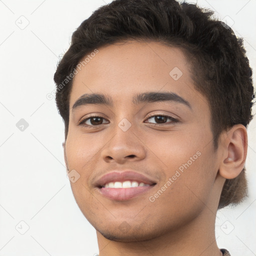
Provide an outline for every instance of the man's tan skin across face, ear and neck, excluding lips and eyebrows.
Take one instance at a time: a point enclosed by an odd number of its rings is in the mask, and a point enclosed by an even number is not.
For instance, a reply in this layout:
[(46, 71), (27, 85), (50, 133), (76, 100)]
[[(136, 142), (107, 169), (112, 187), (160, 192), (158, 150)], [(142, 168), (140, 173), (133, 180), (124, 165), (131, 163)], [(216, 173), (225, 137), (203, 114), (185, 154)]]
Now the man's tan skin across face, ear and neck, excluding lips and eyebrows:
[[(80, 174), (70, 184), (96, 229), (99, 255), (222, 255), (215, 241), (215, 214), (225, 179), (236, 177), (244, 166), (246, 128), (237, 124), (223, 131), (214, 151), (208, 101), (195, 90), (180, 49), (130, 40), (98, 50), (74, 77), (63, 147), (67, 169)], [(176, 81), (169, 75), (173, 67), (183, 73)], [(134, 94), (146, 91), (174, 92), (191, 109), (178, 102), (132, 103)], [(107, 94), (113, 106), (91, 104), (72, 111), (84, 93)], [(96, 128), (78, 125), (89, 114), (102, 117), (102, 124), (88, 119), (86, 124)], [(178, 122), (167, 119), (154, 126), (157, 120), (149, 114), (169, 115)], [(131, 123), (125, 132), (118, 126), (123, 118)], [(197, 151), (200, 156), (149, 201)], [(108, 199), (92, 185), (100, 175), (125, 168), (145, 173), (156, 185), (126, 201)]]

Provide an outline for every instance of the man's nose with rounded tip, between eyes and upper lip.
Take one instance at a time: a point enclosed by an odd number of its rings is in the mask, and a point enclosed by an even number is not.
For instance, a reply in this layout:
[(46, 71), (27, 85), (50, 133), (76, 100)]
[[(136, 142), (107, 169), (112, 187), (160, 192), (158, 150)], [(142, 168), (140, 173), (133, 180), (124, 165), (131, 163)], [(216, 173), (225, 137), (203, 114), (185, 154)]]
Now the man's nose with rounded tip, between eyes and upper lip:
[(101, 150), (101, 157), (104, 161), (124, 163), (125, 161), (138, 161), (145, 157), (146, 146), (132, 125), (126, 131), (116, 125), (109, 137), (111, 139)]

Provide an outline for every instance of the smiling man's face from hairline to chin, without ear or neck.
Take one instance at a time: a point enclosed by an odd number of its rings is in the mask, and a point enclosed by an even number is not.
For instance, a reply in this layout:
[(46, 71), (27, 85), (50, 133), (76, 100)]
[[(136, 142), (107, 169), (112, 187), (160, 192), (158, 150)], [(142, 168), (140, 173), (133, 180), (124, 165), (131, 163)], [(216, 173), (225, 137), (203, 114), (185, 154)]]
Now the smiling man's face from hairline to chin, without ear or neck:
[[(182, 51), (137, 41), (98, 50), (74, 77), (65, 143), (67, 167), (80, 175), (71, 188), (84, 216), (105, 237), (131, 241), (159, 236), (213, 211), (218, 161), (210, 110), (194, 88)], [(183, 100), (173, 94), (170, 100), (133, 100), (146, 92), (175, 93)], [(112, 105), (80, 100), (72, 109), (85, 93), (105, 94)], [(91, 115), (98, 118), (85, 120)], [(151, 185), (102, 188), (97, 181), (127, 169), (145, 175)], [(139, 178), (123, 179), (136, 185)]]

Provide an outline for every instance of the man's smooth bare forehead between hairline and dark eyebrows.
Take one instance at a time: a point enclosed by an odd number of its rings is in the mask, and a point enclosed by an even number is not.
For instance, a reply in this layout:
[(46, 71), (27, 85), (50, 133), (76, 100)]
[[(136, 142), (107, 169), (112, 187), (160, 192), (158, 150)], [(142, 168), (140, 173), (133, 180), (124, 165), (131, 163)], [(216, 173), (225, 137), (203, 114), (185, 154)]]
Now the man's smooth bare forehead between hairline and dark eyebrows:
[(74, 76), (70, 108), (85, 93), (107, 94), (116, 104), (132, 101), (137, 93), (161, 90), (189, 98), (191, 104), (196, 101), (198, 92), (181, 49), (159, 42), (129, 40), (97, 50), (81, 59), (86, 58), (86, 62)]

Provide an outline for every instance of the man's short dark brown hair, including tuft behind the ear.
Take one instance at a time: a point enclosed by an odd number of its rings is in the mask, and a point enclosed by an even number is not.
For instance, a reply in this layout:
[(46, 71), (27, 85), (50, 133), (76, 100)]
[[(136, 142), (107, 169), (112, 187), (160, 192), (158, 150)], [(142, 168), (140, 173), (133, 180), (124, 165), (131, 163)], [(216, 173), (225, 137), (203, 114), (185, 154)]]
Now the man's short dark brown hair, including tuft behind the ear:
[[(194, 87), (209, 103), (215, 150), (223, 130), (238, 123), (247, 127), (252, 119), (253, 85), (243, 39), (213, 14), (196, 4), (176, 0), (115, 0), (95, 10), (73, 32), (70, 47), (54, 74), (55, 100), (65, 124), (65, 139), (77, 64), (95, 48), (128, 39), (158, 41), (184, 52)], [(218, 208), (237, 204), (246, 196), (243, 168), (237, 177), (226, 179)]]

